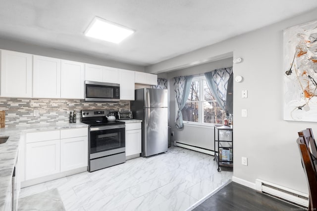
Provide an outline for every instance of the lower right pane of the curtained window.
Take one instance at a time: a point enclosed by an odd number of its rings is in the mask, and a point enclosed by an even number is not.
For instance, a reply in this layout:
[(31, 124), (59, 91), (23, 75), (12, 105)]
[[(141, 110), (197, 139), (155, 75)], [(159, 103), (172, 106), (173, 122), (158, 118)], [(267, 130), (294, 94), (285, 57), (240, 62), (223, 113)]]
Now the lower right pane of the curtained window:
[(204, 123), (223, 124), (225, 112), (217, 102), (204, 102)]

